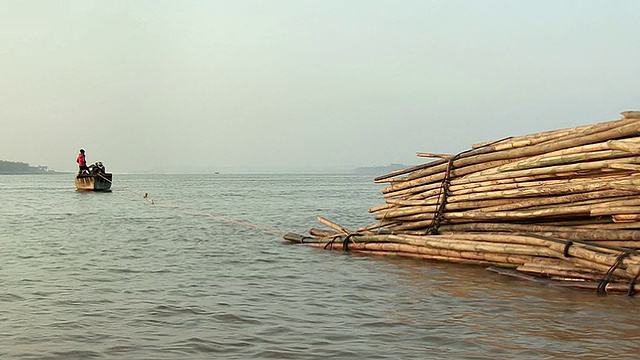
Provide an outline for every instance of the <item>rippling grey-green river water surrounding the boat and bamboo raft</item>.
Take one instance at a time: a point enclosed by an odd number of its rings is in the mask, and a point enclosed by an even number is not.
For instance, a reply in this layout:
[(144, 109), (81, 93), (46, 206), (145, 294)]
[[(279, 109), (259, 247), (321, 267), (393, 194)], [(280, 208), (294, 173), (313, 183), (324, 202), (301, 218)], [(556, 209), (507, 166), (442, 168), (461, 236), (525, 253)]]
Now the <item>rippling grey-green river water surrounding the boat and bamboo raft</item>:
[(372, 224), (380, 188), (115, 174), (111, 193), (83, 193), (73, 174), (0, 176), (0, 358), (640, 356), (637, 298), (282, 240), (317, 216)]

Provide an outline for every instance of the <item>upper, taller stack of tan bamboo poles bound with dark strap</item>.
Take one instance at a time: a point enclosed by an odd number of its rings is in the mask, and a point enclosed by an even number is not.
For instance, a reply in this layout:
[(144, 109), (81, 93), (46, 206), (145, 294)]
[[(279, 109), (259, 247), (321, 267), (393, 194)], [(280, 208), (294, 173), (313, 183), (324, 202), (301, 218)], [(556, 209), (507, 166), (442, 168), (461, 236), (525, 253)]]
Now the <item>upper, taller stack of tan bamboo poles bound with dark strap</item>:
[(390, 183), (386, 204), (370, 210), (379, 223), (362, 230), (640, 228), (639, 115), (481, 144), (378, 177)]

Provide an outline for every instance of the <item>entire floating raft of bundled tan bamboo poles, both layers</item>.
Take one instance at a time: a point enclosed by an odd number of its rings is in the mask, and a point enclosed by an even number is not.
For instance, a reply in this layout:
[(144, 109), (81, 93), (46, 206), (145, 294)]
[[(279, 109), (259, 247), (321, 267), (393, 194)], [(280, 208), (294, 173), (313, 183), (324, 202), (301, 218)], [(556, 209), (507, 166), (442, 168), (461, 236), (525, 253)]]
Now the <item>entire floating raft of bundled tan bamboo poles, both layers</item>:
[(374, 179), (375, 224), (286, 234), (295, 243), (486, 266), (600, 294), (640, 290), (640, 112), (476, 144)]

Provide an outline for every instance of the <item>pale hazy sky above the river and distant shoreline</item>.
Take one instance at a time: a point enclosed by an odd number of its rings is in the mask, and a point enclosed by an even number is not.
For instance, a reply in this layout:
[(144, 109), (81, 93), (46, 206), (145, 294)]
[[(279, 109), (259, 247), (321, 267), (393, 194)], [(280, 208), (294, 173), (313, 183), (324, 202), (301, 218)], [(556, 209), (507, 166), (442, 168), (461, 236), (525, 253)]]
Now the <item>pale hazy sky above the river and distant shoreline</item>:
[(418, 164), (640, 110), (640, 1), (0, 0), (0, 159)]

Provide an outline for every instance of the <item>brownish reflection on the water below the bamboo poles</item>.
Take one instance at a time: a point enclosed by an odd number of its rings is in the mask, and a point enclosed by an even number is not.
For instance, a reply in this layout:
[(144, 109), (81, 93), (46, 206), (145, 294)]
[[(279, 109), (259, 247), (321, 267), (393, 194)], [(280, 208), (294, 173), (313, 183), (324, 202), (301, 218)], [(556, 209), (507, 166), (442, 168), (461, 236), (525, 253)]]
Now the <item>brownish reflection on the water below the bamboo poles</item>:
[[(529, 349), (543, 357), (593, 356), (639, 350), (638, 299), (541, 286), (480, 267), (393, 261), (416, 297), (459, 328), (460, 336), (492, 348)], [(417, 264), (416, 264), (417, 263)], [(422, 290), (422, 291), (420, 291)], [(447, 303), (446, 299), (456, 299)], [(408, 299), (410, 302), (411, 300)]]

